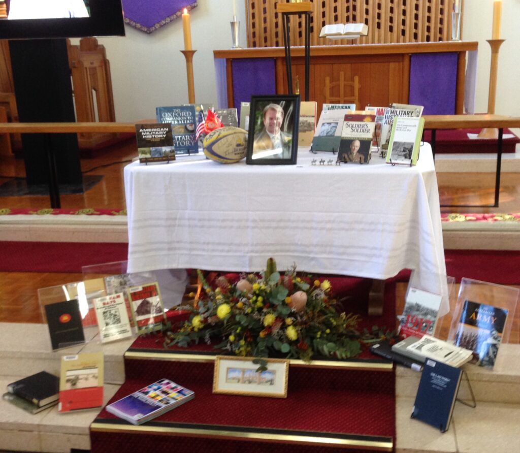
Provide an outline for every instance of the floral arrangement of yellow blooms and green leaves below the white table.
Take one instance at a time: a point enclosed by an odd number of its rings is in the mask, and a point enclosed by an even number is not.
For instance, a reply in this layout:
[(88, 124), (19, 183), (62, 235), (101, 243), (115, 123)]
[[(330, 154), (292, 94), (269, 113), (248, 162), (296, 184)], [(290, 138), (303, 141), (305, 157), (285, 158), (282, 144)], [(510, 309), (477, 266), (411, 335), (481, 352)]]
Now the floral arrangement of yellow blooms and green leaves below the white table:
[(198, 271), (204, 298), (179, 329), (167, 332), (165, 346), (222, 340), (215, 347), (238, 356), (283, 355), (306, 362), (315, 355), (348, 358), (361, 351), (358, 317), (340, 312), (328, 280), (298, 277), (296, 266), (283, 276), (269, 258), (261, 275), (218, 277), (213, 286)]

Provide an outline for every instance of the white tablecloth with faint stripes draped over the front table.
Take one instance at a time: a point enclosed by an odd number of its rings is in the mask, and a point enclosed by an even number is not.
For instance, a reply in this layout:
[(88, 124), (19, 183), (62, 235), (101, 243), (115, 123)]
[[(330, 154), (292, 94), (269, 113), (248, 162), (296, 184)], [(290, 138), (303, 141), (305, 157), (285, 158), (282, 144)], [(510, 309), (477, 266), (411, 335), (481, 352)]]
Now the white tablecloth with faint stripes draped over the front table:
[(124, 169), (128, 270), (283, 270), (385, 279), (416, 271), (416, 287), (443, 294), (446, 265), (432, 150), (417, 166), (223, 165), (201, 157)]

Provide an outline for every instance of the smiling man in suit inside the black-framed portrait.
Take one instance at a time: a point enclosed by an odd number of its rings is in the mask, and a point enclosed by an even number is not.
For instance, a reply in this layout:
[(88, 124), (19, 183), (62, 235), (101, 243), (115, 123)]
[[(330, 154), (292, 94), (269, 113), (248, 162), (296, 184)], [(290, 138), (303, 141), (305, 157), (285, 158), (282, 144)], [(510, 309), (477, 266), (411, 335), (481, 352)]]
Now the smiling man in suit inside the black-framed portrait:
[(283, 115), (283, 109), (278, 104), (270, 103), (264, 108), (262, 112), (264, 127), (255, 134), (253, 158), (257, 153), (262, 153), (262, 157), (274, 159), (291, 157), (292, 134), (281, 130)]

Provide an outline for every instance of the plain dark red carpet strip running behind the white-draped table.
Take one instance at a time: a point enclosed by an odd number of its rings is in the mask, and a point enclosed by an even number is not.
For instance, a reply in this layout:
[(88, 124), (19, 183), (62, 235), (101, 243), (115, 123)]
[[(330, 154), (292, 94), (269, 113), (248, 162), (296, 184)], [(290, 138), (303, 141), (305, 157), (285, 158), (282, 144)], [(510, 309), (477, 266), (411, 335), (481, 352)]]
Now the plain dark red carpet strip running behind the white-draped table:
[[(127, 259), (127, 243), (0, 241), (1, 272), (81, 273), (82, 266)], [(448, 275), (520, 284), (520, 251), (446, 250)], [(399, 280), (408, 274), (401, 273)], [(334, 283), (334, 282), (333, 282)]]

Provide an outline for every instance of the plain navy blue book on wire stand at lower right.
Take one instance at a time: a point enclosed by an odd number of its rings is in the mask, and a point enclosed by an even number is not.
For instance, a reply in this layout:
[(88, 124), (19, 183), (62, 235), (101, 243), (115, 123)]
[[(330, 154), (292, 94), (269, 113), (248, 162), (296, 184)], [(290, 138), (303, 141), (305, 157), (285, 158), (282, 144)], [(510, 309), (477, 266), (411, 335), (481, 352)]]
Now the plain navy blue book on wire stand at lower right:
[(426, 359), (411, 417), (448, 431), (461, 378), (462, 369)]

